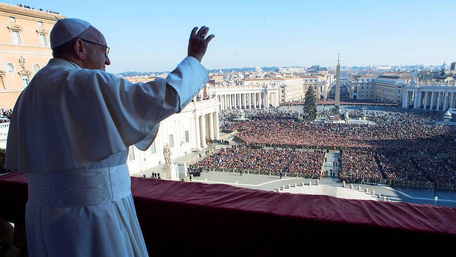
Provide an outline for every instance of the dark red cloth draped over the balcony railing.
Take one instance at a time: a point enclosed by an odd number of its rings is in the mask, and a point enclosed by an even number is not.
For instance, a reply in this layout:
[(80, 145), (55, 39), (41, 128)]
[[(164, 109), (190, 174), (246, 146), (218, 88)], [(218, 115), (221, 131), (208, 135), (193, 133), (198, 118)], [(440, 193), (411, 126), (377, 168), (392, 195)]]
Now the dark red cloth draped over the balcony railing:
[[(131, 177), (150, 255), (283, 255), (321, 246), (370, 249), (456, 239), (456, 209)], [(24, 174), (0, 176), (0, 216), (24, 223)], [(5, 208), (7, 207), (7, 208)], [(348, 243), (348, 245), (346, 245)]]

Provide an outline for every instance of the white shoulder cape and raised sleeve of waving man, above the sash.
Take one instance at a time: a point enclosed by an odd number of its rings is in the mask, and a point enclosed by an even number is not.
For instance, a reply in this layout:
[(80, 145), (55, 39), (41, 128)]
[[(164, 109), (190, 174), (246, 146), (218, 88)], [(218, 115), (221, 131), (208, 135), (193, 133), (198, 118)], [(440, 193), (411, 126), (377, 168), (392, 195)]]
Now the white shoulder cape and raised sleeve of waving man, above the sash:
[(100, 70), (48, 65), (16, 102), (5, 167), (55, 172), (90, 165), (133, 144), (145, 150), (159, 122), (180, 112), (208, 81), (193, 57), (166, 80), (136, 84)]

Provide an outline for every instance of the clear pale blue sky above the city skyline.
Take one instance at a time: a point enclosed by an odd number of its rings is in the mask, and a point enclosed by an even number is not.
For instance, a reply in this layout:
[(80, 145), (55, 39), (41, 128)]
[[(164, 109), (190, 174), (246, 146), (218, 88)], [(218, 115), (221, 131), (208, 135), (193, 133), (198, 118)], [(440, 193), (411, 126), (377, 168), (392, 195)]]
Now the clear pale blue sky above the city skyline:
[[(17, 1), (5, 1), (15, 5)], [(451, 1), (47, 1), (111, 47), (109, 72), (171, 70), (207, 25), (206, 68), (424, 64), (456, 60)]]

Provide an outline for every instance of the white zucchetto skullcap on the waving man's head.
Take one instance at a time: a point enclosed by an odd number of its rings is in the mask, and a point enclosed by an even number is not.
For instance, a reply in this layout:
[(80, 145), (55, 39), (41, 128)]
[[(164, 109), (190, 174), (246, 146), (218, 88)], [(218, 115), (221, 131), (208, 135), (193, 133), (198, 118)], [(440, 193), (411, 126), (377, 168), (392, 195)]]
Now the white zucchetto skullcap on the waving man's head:
[(65, 18), (54, 24), (50, 31), (50, 48), (56, 48), (81, 35), (91, 24), (82, 19)]

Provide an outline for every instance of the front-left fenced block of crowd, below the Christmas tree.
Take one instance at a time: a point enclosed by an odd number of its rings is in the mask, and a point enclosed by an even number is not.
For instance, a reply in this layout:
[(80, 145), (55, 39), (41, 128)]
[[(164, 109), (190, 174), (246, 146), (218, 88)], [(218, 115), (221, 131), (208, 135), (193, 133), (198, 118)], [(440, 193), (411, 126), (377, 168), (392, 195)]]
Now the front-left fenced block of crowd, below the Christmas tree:
[(204, 170), (242, 169), (270, 172), (303, 172), (319, 174), (325, 161), (324, 151), (296, 151), (294, 149), (269, 149), (252, 146), (222, 148), (211, 156), (190, 165), (192, 173)]

